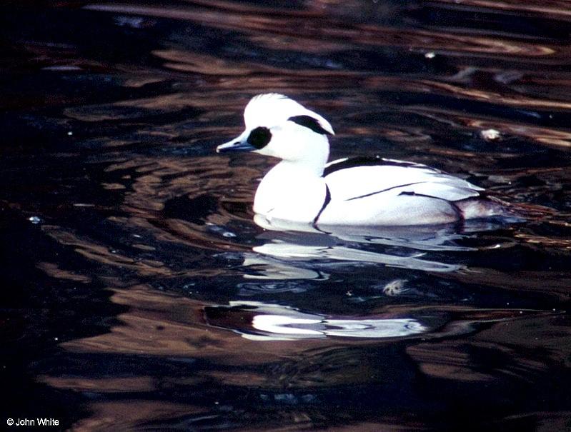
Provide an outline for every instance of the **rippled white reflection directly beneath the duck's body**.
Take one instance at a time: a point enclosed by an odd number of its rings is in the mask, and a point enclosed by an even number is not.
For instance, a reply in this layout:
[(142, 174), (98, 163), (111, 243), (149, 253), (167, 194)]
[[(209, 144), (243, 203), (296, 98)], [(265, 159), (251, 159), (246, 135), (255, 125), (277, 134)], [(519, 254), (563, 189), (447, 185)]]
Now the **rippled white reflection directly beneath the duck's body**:
[[(464, 268), (453, 253), (474, 251), (463, 241), (473, 233), (491, 231), (505, 221), (472, 221), (441, 226), (313, 226), (254, 216), (264, 228), (255, 253), (244, 253), (246, 278), (327, 278), (337, 266), (383, 264), (431, 272)], [(501, 246), (501, 245), (499, 245)], [(442, 252), (446, 252), (444, 255)]]

